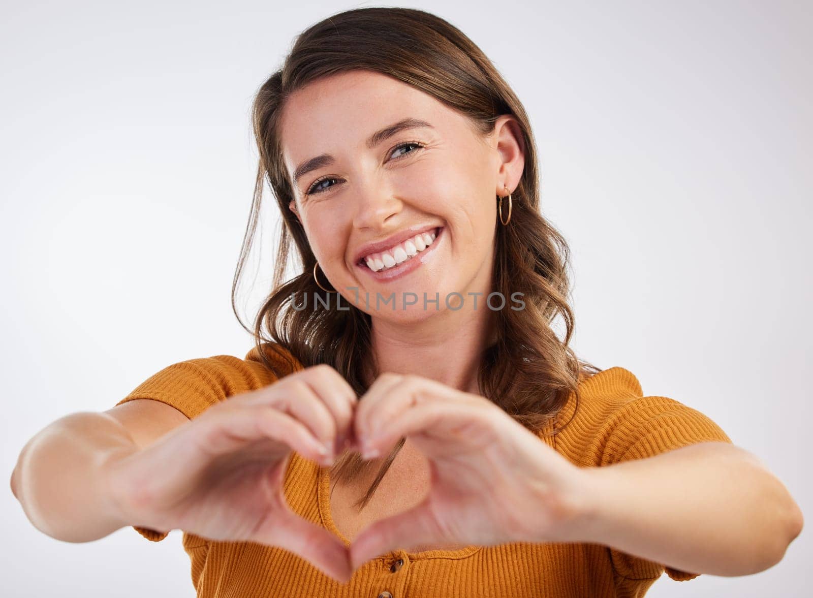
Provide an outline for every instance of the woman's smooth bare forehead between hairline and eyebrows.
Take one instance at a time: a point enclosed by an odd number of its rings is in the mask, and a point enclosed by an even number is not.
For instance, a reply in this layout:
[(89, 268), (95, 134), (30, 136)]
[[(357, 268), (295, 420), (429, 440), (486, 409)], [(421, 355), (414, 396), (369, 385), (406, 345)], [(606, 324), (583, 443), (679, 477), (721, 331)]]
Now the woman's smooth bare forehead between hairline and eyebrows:
[(428, 93), (377, 72), (323, 77), (285, 102), (280, 118), (285, 165), (293, 172), (302, 160), (323, 152), (362, 150), (372, 132), (406, 117), (427, 120), (438, 129), (462, 118)]

